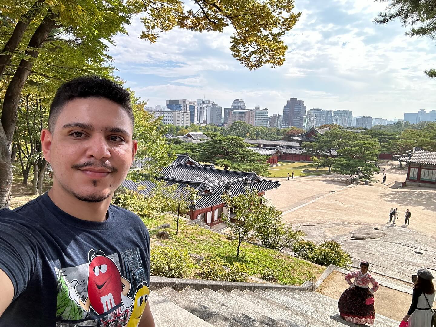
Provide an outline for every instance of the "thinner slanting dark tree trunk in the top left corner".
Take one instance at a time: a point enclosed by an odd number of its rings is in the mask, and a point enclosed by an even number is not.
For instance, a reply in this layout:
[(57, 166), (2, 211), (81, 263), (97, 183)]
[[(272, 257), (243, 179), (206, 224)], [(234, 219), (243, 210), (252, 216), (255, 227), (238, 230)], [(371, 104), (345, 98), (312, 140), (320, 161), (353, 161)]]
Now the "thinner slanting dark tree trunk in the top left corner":
[[(42, 7), (44, 7), (44, 0), (38, 0), (34, 3), (31, 9), (27, 11), (27, 13), (23, 14), (20, 17), (20, 20), (18, 20), (17, 25), (15, 25), (14, 31), (12, 32), (9, 40), (4, 45), (3, 51), (1, 51), (1, 53), (13, 53), (17, 49), (18, 44), (20, 44), (21, 39), (23, 38), (24, 32), (26, 31), (31, 21), (41, 11)], [(0, 55), (0, 79), (3, 77), (3, 73), (5, 72), (6, 66), (9, 63), (11, 57), (12, 54)]]

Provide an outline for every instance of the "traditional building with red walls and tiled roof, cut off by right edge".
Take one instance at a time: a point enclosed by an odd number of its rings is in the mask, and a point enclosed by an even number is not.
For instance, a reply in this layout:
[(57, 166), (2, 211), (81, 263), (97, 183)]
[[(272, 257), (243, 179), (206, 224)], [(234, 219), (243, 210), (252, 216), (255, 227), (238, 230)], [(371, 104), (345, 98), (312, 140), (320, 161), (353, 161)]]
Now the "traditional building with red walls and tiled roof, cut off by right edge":
[(405, 183), (436, 187), (436, 152), (414, 147), (412, 152), (392, 158), (408, 164)]

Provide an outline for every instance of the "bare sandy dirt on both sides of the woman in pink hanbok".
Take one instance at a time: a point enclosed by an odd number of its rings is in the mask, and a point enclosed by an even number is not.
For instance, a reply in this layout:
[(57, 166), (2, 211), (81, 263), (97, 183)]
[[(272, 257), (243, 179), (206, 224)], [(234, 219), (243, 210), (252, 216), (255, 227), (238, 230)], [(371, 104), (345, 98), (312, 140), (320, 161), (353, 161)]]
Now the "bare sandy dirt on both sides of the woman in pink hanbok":
[[(334, 271), (317, 289), (317, 292), (339, 300), (341, 294), (349, 286), (344, 279), (344, 274)], [(374, 293), (375, 312), (395, 320), (402, 320), (412, 303), (412, 295), (380, 286)]]

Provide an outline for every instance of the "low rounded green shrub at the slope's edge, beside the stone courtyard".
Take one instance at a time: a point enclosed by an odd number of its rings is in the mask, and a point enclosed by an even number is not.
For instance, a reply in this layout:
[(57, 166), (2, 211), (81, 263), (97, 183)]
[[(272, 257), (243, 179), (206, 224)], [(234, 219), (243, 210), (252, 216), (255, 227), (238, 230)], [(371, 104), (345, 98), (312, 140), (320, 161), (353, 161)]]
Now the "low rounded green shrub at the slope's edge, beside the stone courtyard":
[(321, 266), (330, 264), (345, 268), (351, 263), (350, 255), (335, 241), (327, 241), (317, 246), (310, 241), (301, 240), (293, 246), (294, 254)]

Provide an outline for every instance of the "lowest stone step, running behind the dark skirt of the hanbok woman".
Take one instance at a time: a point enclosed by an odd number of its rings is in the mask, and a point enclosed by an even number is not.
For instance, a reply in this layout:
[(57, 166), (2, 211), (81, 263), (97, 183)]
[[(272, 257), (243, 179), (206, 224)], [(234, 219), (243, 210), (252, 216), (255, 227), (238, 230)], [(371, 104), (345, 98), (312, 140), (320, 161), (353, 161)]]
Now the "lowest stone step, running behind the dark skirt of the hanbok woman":
[[(274, 291), (279, 294), (288, 296), (294, 300), (300, 301), (307, 305), (317, 306), (321, 311), (328, 313), (332, 316), (339, 316), (339, 311), (337, 309), (337, 300), (331, 297), (325, 296), (317, 292), (295, 292), (295, 291)], [(341, 318), (340, 318), (341, 319)], [(339, 320), (340, 321), (340, 320)], [(343, 320), (342, 320), (343, 321)], [(378, 313), (375, 314), (375, 324), (374, 327), (398, 327), (399, 321), (395, 321), (388, 317), (382, 316)]]

